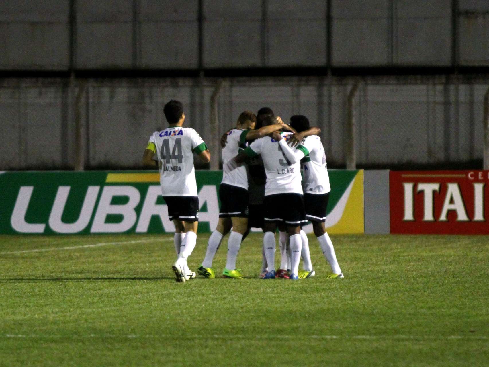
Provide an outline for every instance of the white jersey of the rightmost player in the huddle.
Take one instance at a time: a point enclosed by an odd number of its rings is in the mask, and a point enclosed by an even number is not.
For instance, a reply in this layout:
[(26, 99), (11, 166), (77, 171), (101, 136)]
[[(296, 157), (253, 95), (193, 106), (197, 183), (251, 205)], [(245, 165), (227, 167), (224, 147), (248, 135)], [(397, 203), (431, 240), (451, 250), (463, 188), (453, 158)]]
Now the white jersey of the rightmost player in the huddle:
[(326, 154), (321, 138), (311, 136), (304, 138), (301, 144), (309, 151), (304, 162), (304, 193), (326, 194), (331, 191), (330, 178), (326, 168)]

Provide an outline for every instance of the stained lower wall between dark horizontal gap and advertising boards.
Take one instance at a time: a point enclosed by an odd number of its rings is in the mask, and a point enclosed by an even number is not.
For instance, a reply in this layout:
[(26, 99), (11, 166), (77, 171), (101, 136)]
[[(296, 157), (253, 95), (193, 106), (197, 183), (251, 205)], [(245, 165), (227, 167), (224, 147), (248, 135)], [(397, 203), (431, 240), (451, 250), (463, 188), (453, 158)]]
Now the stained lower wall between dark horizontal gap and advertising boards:
[[(351, 112), (348, 95), (358, 83)], [(221, 135), (244, 110), (271, 107), (319, 126), (330, 167), (482, 160), (486, 76), (0, 80), (0, 169), (134, 168), (163, 105), (181, 100), (218, 168)], [(214, 97), (214, 98), (212, 98)], [(217, 111), (217, 119), (212, 115)], [(477, 167), (473, 167), (477, 168)]]

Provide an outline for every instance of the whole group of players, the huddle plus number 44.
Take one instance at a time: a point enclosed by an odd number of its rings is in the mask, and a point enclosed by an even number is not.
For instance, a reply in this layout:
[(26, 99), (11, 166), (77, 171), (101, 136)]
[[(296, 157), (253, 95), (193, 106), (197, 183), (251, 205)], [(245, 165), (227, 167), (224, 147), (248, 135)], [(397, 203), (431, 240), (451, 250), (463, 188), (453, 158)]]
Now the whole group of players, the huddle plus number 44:
[[(193, 154), (208, 162), (210, 153), (194, 129), (182, 127), (185, 115), (180, 102), (171, 100), (163, 111), (169, 127), (150, 137), (143, 164), (157, 166), (160, 171), (162, 195), (176, 228), (177, 261), (172, 269), (176, 280), (184, 282), (196, 277), (187, 265), (196, 245), (199, 220)], [(241, 242), (250, 228), (261, 228), (264, 232), (261, 278), (314, 276), (308, 237), (302, 229), (311, 221), (332, 269), (327, 278), (343, 277), (324, 225), (331, 186), (324, 147), (318, 137), (320, 129), (309, 125), (303, 115), (293, 115), (290, 123), (285, 124), (270, 108), (264, 107), (257, 115), (244, 111), (236, 127), (222, 137), (219, 222), (209, 237), (205, 258), (197, 270), (199, 275), (215, 278), (212, 260), (222, 237), (231, 231), (222, 275), (243, 278), (242, 271), (236, 267)], [(277, 229), (281, 263), (275, 271)], [(303, 269), (299, 271), (301, 257)]]

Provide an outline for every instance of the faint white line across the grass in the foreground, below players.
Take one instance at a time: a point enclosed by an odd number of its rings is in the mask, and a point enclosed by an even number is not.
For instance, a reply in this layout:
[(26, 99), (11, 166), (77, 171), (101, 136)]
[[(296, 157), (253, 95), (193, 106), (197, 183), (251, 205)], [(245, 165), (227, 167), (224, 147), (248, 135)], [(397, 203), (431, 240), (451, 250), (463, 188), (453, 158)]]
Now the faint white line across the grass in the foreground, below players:
[[(51, 339), (51, 338), (66, 338), (66, 335), (22, 335), (22, 334), (3, 334), (0, 338), (10, 338), (10, 339)], [(84, 338), (127, 338), (127, 339), (159, 339), (159, 338), (174, 338), (175, 335), (172, 334), (129, 334), (129, 335), (111, 335), (111, 334), (86, 334), (86, 335), (72, 335), (72, 339), (84, 339)], [(488, 340), (487, 336), (478, 335), (308, 335), (309, 339), (317, 340), (329, 340), (329, 339), (366, 339), (366, 340)], [(183, 337), (183, 339), (253, 339), (242, 335), (189, 335)], [(296, 340), (295, 335), (257, 335), (254, 339), (264, 339), (264, 340), (277, 340), (277, 339), (291, 339)]]

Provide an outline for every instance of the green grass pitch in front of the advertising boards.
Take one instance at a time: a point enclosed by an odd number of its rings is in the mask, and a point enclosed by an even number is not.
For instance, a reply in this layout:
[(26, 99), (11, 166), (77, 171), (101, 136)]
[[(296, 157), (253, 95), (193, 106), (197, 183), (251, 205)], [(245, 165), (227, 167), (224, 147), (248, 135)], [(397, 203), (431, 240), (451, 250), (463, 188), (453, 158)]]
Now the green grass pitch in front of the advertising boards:
[(488, 366), (487, 236), (333, 235), (344, 279), (309, 239), (314, 278), (252, 234), (248, 278), (181, 284), (173, 235), (0, 236), (0, 366)]

